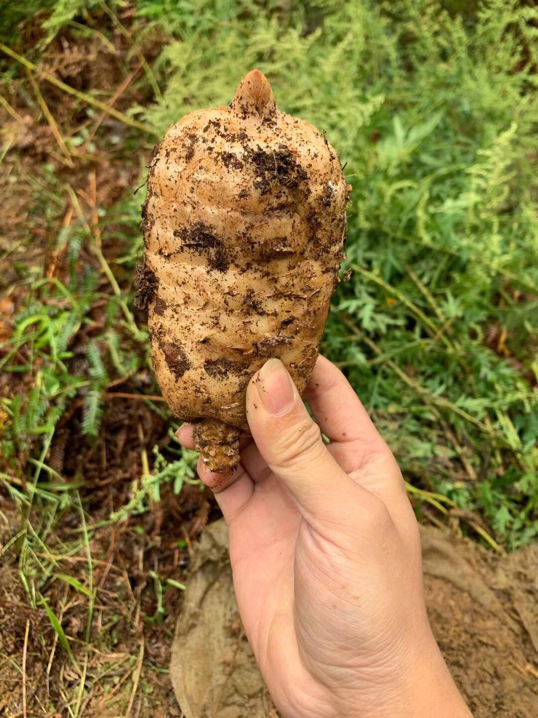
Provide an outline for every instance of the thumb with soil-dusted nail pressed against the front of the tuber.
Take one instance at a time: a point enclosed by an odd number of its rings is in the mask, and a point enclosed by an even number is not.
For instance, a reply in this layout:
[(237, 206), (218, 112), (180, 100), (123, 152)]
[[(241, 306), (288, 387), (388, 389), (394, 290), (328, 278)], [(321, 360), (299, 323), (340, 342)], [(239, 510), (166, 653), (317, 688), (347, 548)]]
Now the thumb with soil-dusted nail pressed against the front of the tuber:
[(327, 451), (280, 360), (268, 360), (250, 381), (247, 420), (260, 454), (308, 520), (341, 524), (371, 496)]

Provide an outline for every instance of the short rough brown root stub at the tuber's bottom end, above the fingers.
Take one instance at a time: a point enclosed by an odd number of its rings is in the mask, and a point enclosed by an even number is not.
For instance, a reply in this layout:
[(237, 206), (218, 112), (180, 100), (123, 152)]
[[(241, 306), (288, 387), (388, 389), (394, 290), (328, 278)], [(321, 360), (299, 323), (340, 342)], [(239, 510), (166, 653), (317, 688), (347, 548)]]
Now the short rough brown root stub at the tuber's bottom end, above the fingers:
[(207, 470), (222, 474), (239, 463), (239, 439), (242, 432), (216, 419), (201, 419), (194, 424), (192, 438)]

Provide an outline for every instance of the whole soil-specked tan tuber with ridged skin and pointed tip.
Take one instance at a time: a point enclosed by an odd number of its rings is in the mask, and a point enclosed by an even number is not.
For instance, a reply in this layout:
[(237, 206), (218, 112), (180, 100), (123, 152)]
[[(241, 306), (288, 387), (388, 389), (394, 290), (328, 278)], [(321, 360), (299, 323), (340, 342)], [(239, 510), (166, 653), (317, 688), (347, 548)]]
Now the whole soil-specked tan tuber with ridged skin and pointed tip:
[(138, 306), (166, 402), (207, 468), (239, 461), (245, 391), (278, 357), (302, 392), (345, 236), (346, 185), (315, 127), (280, 112), (258, 70), (230, 106), (189, 113), (156, 148)]

